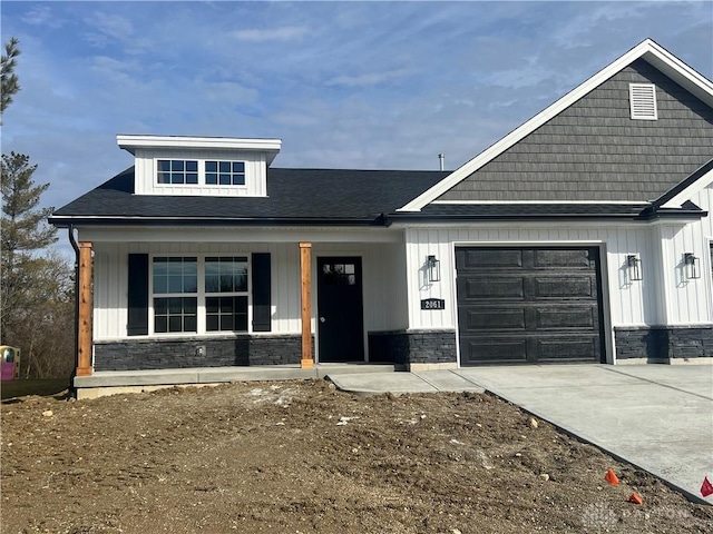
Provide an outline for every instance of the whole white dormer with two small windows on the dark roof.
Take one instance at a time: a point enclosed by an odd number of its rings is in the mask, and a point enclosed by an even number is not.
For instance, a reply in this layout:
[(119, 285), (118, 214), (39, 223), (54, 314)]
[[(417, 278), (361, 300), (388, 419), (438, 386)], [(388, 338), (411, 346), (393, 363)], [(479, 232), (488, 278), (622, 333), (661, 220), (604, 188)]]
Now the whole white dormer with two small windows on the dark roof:
[(116, 136), (135, 158), (136, 195), (266, 197), (280, 139)]

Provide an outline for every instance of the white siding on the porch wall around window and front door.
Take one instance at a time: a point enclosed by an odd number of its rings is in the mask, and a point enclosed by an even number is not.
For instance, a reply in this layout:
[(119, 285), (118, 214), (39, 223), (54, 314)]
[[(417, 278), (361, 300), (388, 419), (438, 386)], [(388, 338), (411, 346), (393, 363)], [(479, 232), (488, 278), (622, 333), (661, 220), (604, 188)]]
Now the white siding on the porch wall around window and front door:
[[(126, 338), (128, 255), (245, 255), (271, 254), (271, 334), (300, 334), (301, 276), (296, 243), (126, 243), (95, 241), (95, 340)], [(407, 327), (406, 259), (403, 244), (315, 243), (312, 248), (312, 328), (318, 309), (316, 258), (359, 256), (362, 258), (364, 332)]]

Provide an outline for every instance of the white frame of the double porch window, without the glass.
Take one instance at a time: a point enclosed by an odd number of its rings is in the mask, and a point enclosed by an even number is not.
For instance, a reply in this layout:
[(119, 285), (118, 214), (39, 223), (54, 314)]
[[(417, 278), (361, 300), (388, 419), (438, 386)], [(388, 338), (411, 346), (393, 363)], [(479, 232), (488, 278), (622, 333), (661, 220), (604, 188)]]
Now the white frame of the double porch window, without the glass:
[[(196, 258), (197, 261), (197, 277), (198, 277), (198, 287), (197, 293), (188, 293), (188, 294), (155, 294), (154, 293), (154, 258)], [(247, 291), (240, 293), (225, 293), (225, 294), (214, 294), (207, 293), (205, 290), (205, 258), (206, 257), (244, 257), (247, 263)], [(201, 337), (225, 337), (225, 336), (241, 336), (246, 334), (253, 334), (253, 290), (252, 290), (252, 276), (253, 276), (253, 264), (252, 264), (252, 255), (248, 253), (202, 253), (202, 254), (193, 254), (193, 253), (155, 253), (148, 255), (149, 259), (149, 273), (148, 273), (148, 337), (186, 337), (186, 336), (201, 336)], [(244, 332), (235, 332), (235, 330), (216, 330), (216, 332), (207, 332), (206, 330), (206, 306), (205, 298), (206, 295), (208, 297), (213, 296), (247, 296), (247, 329)], [(196, 332), (155, 332), (155, 314), (154, 314), (154, 298), (170, 298), (170, 297), (185, 297), (185, 296), (195, 296), (197, 298), (196, 303)]]

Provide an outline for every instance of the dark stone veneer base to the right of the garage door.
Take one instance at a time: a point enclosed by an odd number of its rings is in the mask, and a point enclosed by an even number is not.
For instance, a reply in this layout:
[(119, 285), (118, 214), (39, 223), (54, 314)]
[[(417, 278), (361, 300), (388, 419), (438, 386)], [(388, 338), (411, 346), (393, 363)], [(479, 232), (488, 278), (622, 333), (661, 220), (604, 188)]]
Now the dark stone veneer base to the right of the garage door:
[(615, 327), (614, 339), (619, 364), (713, 362), (713, 325)]

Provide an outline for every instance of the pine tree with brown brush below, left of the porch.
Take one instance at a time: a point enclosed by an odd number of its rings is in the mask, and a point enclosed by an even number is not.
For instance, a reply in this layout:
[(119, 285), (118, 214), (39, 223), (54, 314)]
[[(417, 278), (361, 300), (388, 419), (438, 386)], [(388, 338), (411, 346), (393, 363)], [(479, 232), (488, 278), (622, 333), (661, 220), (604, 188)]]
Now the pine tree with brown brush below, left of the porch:
[(57, 230), (47, 224), (52, 208), (39, 207), (49, 184), (35, 184), (36, 169), (22, 154), (3, 155), (0, 162), (1, 344), (22, 349), (25, 376), (67, 376), (72, 367), (71, 269), (48, 250)]

